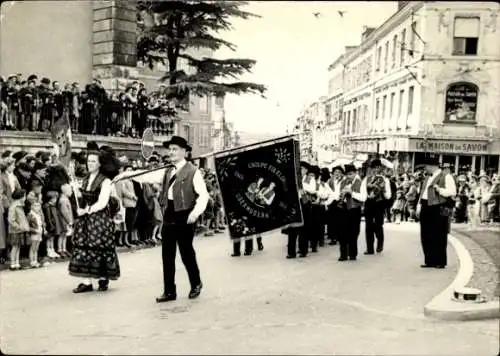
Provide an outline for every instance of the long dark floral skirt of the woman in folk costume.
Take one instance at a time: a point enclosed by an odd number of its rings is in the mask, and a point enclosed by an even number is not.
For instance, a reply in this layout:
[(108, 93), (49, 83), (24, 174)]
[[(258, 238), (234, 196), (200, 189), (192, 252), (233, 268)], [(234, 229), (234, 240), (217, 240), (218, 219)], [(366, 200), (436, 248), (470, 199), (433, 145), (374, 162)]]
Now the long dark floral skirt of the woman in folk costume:
[(120, 278), (115, 224), (107, 209), (77, 219), (69, 274), (84, 278)]

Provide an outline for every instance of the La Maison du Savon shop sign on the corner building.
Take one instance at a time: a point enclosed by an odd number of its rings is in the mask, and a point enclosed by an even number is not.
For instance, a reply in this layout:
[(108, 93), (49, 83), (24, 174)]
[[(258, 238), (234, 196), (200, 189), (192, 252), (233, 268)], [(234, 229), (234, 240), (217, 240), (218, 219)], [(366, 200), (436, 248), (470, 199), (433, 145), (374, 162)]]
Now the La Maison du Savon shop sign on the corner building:
[[(412, 140), (413, 141), (413, 140)], [(459, 140), (414, 140), (412, 146), (417, 152), (488, 154), (488, 143)]]

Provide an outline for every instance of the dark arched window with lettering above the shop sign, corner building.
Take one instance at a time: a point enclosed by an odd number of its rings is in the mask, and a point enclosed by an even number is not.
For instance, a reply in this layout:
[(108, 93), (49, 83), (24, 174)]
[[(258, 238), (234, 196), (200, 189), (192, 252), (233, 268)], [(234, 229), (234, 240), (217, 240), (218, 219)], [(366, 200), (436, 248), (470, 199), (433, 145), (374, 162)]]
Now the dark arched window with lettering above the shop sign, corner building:
[(473, 83), (451, 84), (446, 90), (445, 122), (474, 123), (479, 89)]

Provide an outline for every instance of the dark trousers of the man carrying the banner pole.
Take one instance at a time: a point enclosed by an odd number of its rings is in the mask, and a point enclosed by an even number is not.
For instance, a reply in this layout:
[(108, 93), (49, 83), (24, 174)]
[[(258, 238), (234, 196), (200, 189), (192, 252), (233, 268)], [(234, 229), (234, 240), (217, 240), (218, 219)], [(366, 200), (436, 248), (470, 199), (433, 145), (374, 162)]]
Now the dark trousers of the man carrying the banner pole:
[(175, 287), (175, 255), (177, 245), (181, 254), (182, 263), (186, 267), (191, 288), (201, 283), (200, 270), (196, 262), (196, 253), (193, 248), (194, 224), (187, 224), (191, 210), (174, 211), (173, 201), (168, 201), (163, 218), (162, 228), (162, 259), (163, 284), (165, 294), (176, 293)]

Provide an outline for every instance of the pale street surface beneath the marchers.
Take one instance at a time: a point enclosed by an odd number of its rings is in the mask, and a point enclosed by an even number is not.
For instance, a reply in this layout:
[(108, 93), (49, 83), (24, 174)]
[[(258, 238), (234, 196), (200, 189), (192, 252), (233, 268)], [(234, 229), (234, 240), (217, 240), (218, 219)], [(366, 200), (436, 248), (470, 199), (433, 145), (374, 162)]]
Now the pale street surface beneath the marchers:
[[(411, 230), (411, 231), (410, 231)], [(285, 238), (230, 258), (226, 236), (196, 241), (204, 289), (156, 304), (161, 249), (122, 254), (122, 278), (106, 293), (74, 295), (66, 263), (0, 274), (0, 335), (7, 354), (399, 354), (496, 355), (498, 321), (442, 322), (424, 305), (454, 278), (422, 270), (415, 229), (386, 225), (386, 251), (337, 262), (328, 246), (286, 260)], [(364, 237), (360, 251), (364, 251)]]

